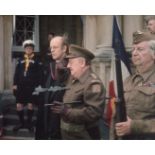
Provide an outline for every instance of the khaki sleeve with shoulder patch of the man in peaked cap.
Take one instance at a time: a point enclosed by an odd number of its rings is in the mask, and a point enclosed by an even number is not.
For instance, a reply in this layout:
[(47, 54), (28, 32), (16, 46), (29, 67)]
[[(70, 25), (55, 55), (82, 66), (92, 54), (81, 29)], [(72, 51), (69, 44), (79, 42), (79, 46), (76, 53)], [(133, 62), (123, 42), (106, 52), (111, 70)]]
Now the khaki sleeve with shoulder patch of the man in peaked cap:
[(67, 110), (66, 119), (72, 123), (90, 123), (101, 118), (104, 111), (105, 89), (99, 82), (92, 82), (84, 90), (84, 106)]

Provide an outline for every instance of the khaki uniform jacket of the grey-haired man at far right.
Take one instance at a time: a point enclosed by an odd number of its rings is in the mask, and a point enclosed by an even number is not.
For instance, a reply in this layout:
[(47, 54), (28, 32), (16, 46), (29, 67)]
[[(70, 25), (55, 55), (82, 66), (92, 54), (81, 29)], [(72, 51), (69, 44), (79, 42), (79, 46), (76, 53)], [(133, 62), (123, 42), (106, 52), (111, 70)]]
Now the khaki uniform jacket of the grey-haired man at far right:
[[(124, 82), (127, 115), (133, 120), (133, 139), (155, 138), (155, 65)], [(154, 137), (153, 137), (154, 135)]]

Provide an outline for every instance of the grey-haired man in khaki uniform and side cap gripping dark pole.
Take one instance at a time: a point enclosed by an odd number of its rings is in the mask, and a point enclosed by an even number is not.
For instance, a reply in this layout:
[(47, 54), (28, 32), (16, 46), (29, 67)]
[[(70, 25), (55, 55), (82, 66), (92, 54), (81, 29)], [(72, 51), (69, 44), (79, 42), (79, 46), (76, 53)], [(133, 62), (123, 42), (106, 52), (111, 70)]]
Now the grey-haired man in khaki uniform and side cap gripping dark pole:
[(127, 121), (116, 123), (117, 136), (155, 139), (155, 36), (137, 31), (133, 35), (135, 74), (124, 82)]

